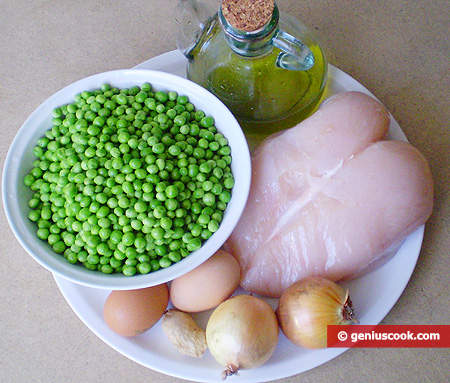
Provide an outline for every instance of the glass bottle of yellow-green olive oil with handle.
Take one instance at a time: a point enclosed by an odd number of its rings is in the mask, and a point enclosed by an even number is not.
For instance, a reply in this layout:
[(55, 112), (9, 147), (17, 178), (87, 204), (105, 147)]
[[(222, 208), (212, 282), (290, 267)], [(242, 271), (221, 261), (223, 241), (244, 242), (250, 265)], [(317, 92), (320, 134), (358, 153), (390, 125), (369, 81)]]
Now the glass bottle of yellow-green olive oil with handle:
[[(177, 45), (188, 59), (187, 77), (221, 99), (247, 135), (294, 126), (315, 110), (324, 93), (322, 47), (296, 18), (280, 15), (273, 1), (256, 2), (269, 9), (256, 10), (263, 13), (262, 25), (254, 30), (229, 3), (239, 0), (223, 0), (218, 11), (195, 0), (179, 1)], [(251, 12), (247, 24), (257, 24), (258, 13)]]

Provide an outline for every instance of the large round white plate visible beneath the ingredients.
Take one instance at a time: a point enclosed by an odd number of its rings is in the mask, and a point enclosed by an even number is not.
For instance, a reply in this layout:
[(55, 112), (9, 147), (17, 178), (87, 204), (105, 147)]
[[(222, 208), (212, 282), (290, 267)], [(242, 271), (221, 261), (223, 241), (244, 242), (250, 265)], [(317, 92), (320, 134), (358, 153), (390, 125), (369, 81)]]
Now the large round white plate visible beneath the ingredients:
[[(148, 60), (137, 68), (162, 70), (185, 76), (185, 64), (181, 53), (172, 51)], [(353, 78), (331, 65), (329, 87), (331, 94), (345, 90), (371, 94)], [(393, 118), (390, 138), (406, 140)], [(361, 324), (378, 324), (395, 305), (416, 265), (423, 233), (424, 226), (412, 233), (395, 257), (381, 268), (346, 284)], [(69, 305), (86, 326), (119, 353), (152, 370), (181, 379), (195, 382), (222, 381), (220, 373), (223, 367), (208, 352), (201, 359), (181, 355), (162, 332), (160, 322), (150, 331), (134, 338), (124, 338), (113, 333), (104, 323), (102, 316), (108, 290), (76, 285), (58, 276), (55, 276), (55, 280)], [(270, 303), (276, 304), (273, 300)], [(197, 318), (203, 324), (207, 319), (205, 315)], [(239, 376), (229, 377), (227, 381), (261, 383), (282, 379), (326, 363), (346, 350), (304, 350), (294, 346), (281, 334), (277, 349), (266, 364), (253, 370), (240, 371)]]

